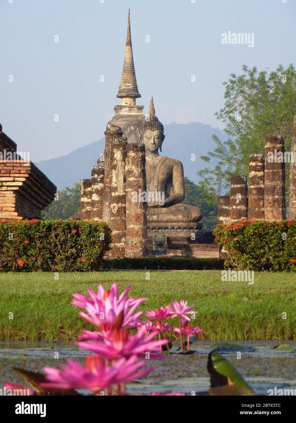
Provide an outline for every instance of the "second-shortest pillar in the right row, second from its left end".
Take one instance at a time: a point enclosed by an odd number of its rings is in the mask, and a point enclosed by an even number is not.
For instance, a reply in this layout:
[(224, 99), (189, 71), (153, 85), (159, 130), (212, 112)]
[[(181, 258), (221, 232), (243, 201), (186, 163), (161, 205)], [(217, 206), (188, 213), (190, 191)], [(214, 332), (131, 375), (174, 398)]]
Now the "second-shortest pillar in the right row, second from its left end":
[(230, 187), (230, 220), (247, 219), (248, 188), (246, 176), (231, 176)]

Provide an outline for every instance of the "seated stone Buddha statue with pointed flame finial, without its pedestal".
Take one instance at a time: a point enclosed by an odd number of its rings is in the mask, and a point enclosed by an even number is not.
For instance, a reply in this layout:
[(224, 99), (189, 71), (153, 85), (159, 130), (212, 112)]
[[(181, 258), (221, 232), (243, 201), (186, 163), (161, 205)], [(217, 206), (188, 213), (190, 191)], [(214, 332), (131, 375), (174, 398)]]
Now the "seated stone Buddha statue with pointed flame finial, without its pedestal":
[(155, 116), (153, 97), (149, 119), (145, 124), (143, 143), (146, 151), (147, 222), (199, 222), (199, 207), (181, 203), (185, 198), (182, 162), (160, 156), (165, 138), (163, 124)]

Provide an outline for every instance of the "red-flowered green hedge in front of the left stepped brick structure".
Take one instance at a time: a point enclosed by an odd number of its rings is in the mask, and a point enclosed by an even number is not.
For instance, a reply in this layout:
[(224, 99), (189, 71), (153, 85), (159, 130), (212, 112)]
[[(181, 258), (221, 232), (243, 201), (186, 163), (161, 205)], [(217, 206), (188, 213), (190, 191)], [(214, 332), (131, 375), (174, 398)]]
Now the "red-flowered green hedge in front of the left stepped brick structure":
[(1, 272), (98, 270), (111, 231), (94, 220), (0, 222)]

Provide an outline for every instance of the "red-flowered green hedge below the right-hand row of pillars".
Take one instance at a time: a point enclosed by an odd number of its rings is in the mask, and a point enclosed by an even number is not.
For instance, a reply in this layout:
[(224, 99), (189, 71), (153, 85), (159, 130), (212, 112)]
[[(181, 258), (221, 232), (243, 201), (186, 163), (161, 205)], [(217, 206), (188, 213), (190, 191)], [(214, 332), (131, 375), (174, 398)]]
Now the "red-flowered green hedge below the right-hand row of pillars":
[(296, 220), (245, 220), (215, 228), (215, 242), (228, 250), (226, 266), (295, 272)]

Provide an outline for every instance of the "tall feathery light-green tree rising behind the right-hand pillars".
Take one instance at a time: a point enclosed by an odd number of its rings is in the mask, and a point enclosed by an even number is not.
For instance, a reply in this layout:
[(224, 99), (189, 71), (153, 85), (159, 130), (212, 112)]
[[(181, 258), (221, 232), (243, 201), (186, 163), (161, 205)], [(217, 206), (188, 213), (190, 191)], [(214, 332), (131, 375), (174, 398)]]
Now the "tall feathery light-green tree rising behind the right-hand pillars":
[[(225, 142), (213, 135), (217, 147), (207, 156), (214, 165), (198, 172), (200, 186), (207, 192), (207, 201), (217, 205), (217, 197), (229, 192), (233, 175), (248, 175), (249, 155), (264, 153), (266, 135), (286, 137), (285, 149), (290, 151), (293, 117), (296, 113), (296, 70), (293, 64), (275, 71), (258, 72), (242, 66), (243, 74), (230, 75), (225, 85), (224, 107), (215, 113), (223, 121)], [(289, 163), (286, 163), (288, 186)]]

